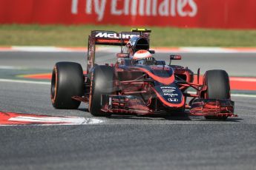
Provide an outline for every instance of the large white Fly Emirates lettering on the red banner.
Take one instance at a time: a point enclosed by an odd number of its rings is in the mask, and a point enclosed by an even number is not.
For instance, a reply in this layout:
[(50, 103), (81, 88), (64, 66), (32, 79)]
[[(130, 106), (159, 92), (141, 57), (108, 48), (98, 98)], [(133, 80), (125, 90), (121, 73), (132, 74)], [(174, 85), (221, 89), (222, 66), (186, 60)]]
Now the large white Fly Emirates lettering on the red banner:
[[(97, 21), (102, 21), (105, 8), (110, 3), (112, 16), (171, 16), (194, 17), (197, 15), (195, 0), (84, 0), (85, 14), (96, 13)], [(82, 4), (82, 3), (80, 3)], [(79, 0), (72, 0), (71, 13), (79, 14)], [(189, 9), (189, 10), (188, 10)]]

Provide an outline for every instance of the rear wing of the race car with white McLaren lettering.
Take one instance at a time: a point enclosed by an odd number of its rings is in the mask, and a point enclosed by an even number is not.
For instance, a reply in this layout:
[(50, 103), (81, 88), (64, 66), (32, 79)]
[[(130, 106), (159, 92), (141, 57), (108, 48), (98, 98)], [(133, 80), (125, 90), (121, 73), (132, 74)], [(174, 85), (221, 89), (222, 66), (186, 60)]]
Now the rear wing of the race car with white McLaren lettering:
[(147, 29), (132, 29), (131, 32), (121, 33), (107, 30), (91, 31), (91, 35), (88, 37), (87, 72), (89, 72), (90, 69), (94, 66), (96, 45), (120, 46), (122, 52), (122, 46), (125, 46), (125, 44), (127, 44), (128, 41), (134, 36), (146, 38), (149, 42), (149, 33), (151, 33), (151, 30)]

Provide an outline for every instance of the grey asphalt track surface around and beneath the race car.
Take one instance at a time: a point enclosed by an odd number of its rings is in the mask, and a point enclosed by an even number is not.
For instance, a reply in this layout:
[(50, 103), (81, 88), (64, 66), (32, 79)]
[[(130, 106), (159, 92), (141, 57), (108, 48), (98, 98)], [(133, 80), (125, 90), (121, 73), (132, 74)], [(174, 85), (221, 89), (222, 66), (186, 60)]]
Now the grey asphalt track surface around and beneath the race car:
[[(99, 61), (111, 61), (108, 55), (100, 53)], [(0, 52), (1, 76), (22, 68), (49, 72), (56, 61), (85, 65), (84, 58), (82, 52)], [(226, 69), (255, 77), (255, 54), (184, 54), (176, 62), (193, 71)], [(92, 118), (85, 104), (53, 109), (49, 85), (0, 84), (3, 112)], [(1, 126), (0, 169), (255, 169), (256, 98), (232, 99), (239, 117), (226, 121), (111, 116), (95, 125)]]

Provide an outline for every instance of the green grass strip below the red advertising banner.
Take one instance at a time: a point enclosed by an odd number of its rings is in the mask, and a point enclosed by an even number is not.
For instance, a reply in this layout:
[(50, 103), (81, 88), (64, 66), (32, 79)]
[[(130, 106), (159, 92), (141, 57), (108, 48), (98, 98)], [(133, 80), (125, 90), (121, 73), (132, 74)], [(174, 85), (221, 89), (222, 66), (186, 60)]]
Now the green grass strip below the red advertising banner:
[[(130, 31), (116, 25), (0, 25), (0, 46), (86, 47), (91, 30)], [(153, 47), (256, 47), (256, 30), (145, 27)]]

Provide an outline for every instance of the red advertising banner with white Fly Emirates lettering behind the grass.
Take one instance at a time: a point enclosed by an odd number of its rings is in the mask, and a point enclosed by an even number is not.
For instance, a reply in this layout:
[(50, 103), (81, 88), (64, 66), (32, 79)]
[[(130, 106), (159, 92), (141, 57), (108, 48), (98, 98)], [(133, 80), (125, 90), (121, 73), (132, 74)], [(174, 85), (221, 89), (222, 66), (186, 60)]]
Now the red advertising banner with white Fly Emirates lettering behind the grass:
[(255, 0), (0, 0), (0, 24), (256, 29)]

